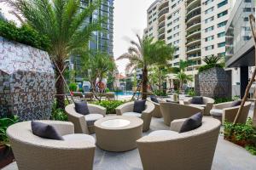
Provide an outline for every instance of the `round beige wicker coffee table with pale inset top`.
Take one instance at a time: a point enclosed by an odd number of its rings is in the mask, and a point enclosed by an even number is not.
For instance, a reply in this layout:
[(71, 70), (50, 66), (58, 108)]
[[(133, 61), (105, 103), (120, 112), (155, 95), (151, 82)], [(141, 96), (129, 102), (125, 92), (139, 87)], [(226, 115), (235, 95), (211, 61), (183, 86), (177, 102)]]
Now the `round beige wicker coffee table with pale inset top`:
[(135, 116), (107, 116), (94, 125), (96, 144), (102, 150), (133, 150), (143, 134), (143, 120)]

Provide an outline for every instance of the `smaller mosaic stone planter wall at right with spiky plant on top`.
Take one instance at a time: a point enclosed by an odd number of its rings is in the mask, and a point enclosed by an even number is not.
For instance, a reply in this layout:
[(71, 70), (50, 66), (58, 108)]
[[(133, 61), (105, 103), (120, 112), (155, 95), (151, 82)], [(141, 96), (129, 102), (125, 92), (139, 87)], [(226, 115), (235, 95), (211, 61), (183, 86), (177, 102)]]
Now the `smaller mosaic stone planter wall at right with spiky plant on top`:
[(215, 67), (200, 72), (197, 84), (201, 96), (231, 98), (231, 74), (223, 68)]

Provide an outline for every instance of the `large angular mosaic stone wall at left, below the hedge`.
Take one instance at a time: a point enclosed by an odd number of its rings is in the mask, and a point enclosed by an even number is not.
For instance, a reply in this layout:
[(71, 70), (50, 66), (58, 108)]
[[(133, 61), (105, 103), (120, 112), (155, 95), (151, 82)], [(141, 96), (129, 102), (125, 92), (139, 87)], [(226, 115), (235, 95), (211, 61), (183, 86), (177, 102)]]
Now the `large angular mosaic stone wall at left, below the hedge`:
[(0, 37), (0, 116), (49, 119), (55, 74), (49, 55)]

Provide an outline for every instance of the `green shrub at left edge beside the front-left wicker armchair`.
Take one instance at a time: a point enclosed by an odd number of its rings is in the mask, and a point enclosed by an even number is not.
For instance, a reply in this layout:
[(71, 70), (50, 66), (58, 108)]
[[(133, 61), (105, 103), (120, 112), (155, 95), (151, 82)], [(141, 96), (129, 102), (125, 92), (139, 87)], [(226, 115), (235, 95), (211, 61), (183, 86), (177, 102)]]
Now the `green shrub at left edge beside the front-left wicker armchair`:
[(18, 116), (3, 117), (0, 119), (0, 145), (5, 144), (9, 146), (9, 138), (7, 137), (6, 130), (16, 122), (19, 122)]

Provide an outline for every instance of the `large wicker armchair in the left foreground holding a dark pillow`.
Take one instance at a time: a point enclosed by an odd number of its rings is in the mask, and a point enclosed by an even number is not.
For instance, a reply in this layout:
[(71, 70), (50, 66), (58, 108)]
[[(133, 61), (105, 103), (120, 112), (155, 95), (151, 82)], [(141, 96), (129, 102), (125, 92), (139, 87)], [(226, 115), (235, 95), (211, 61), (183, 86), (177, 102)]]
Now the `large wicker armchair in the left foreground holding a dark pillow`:
[[(61, 135), (74, 133), (73, 123), (41, 121), (51, 124)], [(19, 170), (92, 169), (96, 146), (84, 140), (51, 140), (35, 136), (31, 122), (19, 122), (7, 129)]]

